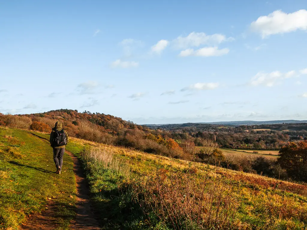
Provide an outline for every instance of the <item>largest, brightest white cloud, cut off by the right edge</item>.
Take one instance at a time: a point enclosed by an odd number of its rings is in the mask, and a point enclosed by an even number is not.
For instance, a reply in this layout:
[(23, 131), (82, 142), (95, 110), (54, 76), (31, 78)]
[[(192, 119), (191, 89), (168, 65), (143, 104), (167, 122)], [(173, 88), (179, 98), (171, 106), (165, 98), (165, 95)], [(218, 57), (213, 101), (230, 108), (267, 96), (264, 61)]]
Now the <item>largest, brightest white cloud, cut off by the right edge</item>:
[(289, 33), (296, 30), (307, 30), (307, 10), (284, 13), (276, 10), (268, 16), (260, 16), (251, 23), (251, 30), (260, 33), (262, 38), (272, 34)]

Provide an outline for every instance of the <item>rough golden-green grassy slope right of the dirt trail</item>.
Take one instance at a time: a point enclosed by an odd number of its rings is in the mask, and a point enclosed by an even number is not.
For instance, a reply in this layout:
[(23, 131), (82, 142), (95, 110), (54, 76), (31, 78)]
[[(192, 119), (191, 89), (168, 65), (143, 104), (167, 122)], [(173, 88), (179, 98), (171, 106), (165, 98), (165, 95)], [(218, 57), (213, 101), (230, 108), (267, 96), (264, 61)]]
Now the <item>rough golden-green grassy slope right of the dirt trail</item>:
[(307, 226), (306, 184), (76, 138), (67, 148), (87, 169), (104, 229)]

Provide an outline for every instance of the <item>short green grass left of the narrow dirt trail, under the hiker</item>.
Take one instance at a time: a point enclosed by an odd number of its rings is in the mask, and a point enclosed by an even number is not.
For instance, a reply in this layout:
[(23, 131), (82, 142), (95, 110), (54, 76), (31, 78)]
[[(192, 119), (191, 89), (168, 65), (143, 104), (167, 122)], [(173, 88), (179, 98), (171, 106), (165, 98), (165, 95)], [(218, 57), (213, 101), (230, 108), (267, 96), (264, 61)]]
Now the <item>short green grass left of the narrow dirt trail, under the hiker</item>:
[(56, 229), (69, 229), (76, 215), (73, 161), (64, 155), (55, 174), (52, 148), (25, 130), (0, 128), (0, 229), (17, 229), (28, 215), (56, 205)]

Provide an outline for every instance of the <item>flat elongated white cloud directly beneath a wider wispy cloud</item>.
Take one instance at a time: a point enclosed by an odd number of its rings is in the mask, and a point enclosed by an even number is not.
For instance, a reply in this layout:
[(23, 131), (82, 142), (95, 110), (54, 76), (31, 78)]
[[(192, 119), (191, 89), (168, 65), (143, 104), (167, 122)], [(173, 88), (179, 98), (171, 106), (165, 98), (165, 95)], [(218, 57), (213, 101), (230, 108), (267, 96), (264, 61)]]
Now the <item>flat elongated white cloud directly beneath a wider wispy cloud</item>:
[(214, 47), (204, 47), (198, 50), (186, 49), (180, 52), (179, 56), (201, 56), (201, 57), (212, 57), (212, 56), (222, 56), (229, 52), (228, 48), (219, 49), (217, 46)]

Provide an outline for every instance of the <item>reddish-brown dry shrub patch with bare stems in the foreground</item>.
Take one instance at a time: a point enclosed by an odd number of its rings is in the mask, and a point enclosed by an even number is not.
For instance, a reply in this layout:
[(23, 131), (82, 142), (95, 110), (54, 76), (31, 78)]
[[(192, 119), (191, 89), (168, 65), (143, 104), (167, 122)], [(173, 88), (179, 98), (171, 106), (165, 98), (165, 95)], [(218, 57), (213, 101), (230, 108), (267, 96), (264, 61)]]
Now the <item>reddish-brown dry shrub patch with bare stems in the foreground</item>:
[(132, 197), (168, 229), (235, 229), (239, 203), (226, 178), (160, 169), (131, 183)]

